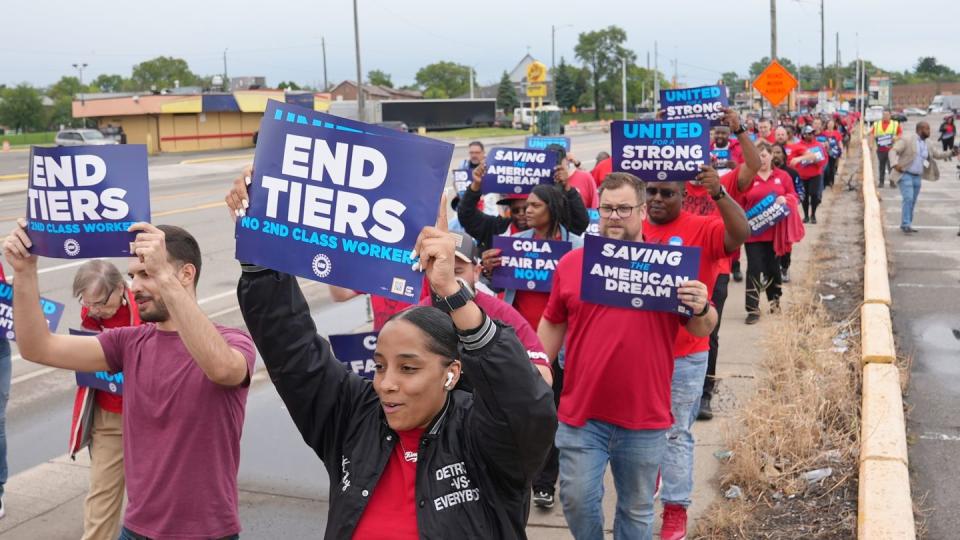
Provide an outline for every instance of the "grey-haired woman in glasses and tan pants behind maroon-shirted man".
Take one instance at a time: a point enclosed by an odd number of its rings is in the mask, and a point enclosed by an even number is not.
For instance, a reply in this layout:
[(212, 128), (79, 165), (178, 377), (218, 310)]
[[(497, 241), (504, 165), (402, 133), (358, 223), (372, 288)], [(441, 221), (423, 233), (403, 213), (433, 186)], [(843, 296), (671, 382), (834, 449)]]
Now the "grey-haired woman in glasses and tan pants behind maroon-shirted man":
[[(140, 313), (123, 274), (112, 263), (85, 262), (73, 279), (80, 302), (81, 326), (87, 332), (138, 326)], [(83, 539), (119, 535), (123, 506), (123, 397), (86, 386), (77, 388), (70, 430), (70, 457), (90, 449), (90, 491), (83, 509)]]

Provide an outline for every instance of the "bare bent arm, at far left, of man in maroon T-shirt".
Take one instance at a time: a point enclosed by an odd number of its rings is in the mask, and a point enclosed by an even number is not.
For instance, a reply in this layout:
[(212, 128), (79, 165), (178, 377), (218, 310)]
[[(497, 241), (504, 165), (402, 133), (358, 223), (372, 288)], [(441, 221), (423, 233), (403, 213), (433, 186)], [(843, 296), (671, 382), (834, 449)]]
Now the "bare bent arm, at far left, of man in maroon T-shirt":
[(37, 256), (28, 251), (33, 246), (27, 235), (26, 221), (4, 240), (3, 252), (13, 267), (13, 327), (20, 354), (31, 362), (73, 371), (107, 371), (103, 347), (92, 336), (51, 334), (40, 309), (40, 287), (37, 277)]

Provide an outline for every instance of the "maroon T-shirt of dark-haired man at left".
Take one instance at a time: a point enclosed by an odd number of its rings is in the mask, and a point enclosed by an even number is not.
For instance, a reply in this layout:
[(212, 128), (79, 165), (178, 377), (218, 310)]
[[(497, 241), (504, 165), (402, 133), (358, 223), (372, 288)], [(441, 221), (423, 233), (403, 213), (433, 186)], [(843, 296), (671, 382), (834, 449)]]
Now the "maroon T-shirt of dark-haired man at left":
[[(250, 335), (215, 325), (253, 377)], [(237, 472), (247, 386), (215, 384), (180, 334), (155, 324), (97, 336), (123, 372), (123, 524), (151, 538), (222, 538), (240, 532)]]

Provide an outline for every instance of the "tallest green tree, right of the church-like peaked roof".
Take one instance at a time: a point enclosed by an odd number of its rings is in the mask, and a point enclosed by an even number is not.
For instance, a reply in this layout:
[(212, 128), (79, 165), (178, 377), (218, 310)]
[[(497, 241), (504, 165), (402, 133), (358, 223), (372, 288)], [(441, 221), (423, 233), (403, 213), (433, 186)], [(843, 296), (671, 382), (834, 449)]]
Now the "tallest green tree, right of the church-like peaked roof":
[(590, 67), (593, 74), (593, 103), (594, 117), (600, 118), (600, 108), (603, 94), (607, 101), (612, 101), (615, 95), (613, 88), (620, 80), (620, 59), (625, 58), (627, 64), (636, 61), (637, 55), (623, 47), (627, 41), (627, 33), (618, 26), (608, 26), (603, 30), (581, 32), (574, 47), (574, 53), (584, 64)]

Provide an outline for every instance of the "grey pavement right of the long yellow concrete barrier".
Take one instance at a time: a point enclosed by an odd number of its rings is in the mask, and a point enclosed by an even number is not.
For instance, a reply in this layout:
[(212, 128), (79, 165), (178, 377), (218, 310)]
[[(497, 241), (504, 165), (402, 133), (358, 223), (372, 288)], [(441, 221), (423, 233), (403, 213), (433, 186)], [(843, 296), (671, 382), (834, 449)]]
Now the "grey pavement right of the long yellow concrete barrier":
[[(937, 133), (942, 116), (926, 120)], [(915, 123), (904, 126), (913, 131)], [(936, 135), (934, 135), (935, 138)], [(899, 349), (913, 356), (909, 406), (910, 471), (914, 500), (931, 512), (929, 538), (960, 530), (960, 181), (956, 161), (939, 162), (939, 182), (924, 182), (914, 214), (915, 235), (899, 229), (900, 192), (883, 198)]]

